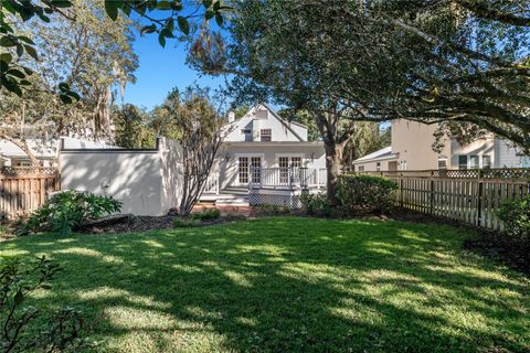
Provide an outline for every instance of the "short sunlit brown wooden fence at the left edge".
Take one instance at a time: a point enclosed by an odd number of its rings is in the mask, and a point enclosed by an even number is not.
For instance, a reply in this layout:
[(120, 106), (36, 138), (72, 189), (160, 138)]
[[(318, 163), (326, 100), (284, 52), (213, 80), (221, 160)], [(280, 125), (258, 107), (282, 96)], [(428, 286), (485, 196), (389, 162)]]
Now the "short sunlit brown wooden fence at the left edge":
[(0, 170), (0, 218), (14, 220), (39, 208), (60, 190), (55, 169), (3, 168)]

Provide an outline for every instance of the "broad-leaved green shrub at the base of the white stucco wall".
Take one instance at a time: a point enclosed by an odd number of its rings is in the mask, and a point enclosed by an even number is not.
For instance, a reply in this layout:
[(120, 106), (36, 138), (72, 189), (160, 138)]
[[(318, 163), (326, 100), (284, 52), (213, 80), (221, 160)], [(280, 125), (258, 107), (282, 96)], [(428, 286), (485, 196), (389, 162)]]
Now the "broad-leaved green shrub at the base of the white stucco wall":
[(98, 220), (120, 210), (121, 202), (112, 196), (63, 191), (50, 197), (36, 210), (19, 234), (44, 231), (65, 236), (88, 220)]

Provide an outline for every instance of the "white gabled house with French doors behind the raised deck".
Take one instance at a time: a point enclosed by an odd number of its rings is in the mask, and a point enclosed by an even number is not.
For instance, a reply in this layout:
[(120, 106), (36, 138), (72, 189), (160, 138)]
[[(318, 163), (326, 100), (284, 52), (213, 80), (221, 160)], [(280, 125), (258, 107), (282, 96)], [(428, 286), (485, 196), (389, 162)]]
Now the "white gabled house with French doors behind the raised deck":
[(307, 141), (306, 126), (282, 119), (264, 104), (237, 120), (230, 114), (225, 129), (211, 173), (221, 190), (250, 183), (279, 186), (287, 183), (289, 170), (326, 168), (324, 143)]

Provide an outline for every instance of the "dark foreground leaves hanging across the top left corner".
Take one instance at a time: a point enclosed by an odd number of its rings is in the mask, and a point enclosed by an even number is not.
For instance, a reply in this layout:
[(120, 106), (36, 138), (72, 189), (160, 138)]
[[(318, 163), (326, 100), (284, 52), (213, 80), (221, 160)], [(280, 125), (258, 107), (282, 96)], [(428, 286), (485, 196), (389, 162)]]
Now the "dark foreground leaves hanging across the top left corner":
[[(177, 32), (184, 35), (191, 33), (190, 21), (203, 19), (209, 21), (215, 19), (218, 25), (224, 23), (224, 12), (231, 8), (221, 0), (197, 1), (165, 1), (165, 0), (105, 0), (105, 12), (112, 20), (117, 20), (121, 13), (125, 17), (136, 14), (151, 22), (141, 28), (141, 34), (158, 33), (160, 45), (166, 45), (166, 39), (176, 38)], [(28, 76), (32, 71), (24, 65), (19, 65), (17, 57), (29, 55), (38, 61), (39, 56), (35, 50), (35, 43), (25, 35), (17, 34), (17, 25), (20, 22), (42, 21), (50, 23), (52, 14), (60, 14), (71, 21), (75, 21), (72, 13), (72, 0), (1, 0), (0, 8), (0, 46), (13, 49), (14, 53), (8, 52), (0, 56), (0, 88), (6, 88), (21, 96), (23, 89), (31, 86)], [(167, 13), (163, 19), (156, 19), (151, 15), (153, 11)], [(14, 54), (14, 55), (13, 55)], [(80, 95), (72, 90), (67, 83), (61, 83), (56, 87), (61, 100), (72, 103), (78, 100)]]

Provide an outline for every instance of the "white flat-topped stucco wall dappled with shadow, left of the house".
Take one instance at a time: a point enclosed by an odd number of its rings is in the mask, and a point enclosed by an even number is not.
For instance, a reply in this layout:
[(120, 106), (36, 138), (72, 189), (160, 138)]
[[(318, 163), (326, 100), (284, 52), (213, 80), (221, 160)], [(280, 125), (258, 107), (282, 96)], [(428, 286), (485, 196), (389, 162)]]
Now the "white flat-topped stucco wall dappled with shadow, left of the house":
[(180, 156), (166, 139), (144, 150), (62, 148), (61, 189), (110, 195), (123, 213), (163, 215), (178, 205)]

